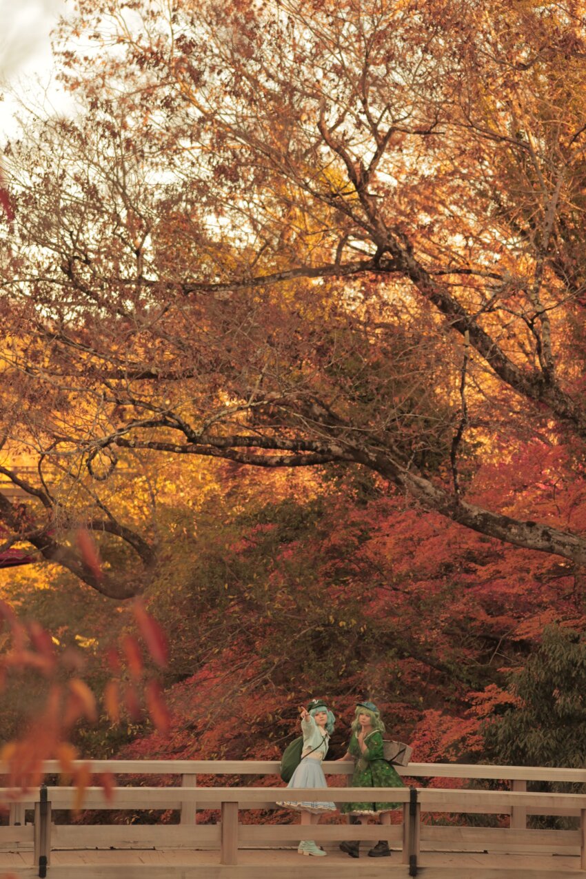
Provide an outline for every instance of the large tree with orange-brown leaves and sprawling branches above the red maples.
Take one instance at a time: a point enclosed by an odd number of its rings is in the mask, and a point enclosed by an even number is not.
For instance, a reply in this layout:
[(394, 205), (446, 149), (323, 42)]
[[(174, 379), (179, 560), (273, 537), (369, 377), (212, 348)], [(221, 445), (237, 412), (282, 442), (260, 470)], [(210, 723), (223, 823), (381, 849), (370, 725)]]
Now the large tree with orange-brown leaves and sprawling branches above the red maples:
[[(366, 468), (582, 564), (583, 13), (81, 0), (78, 113), (5, 156), (3, 429), (38, 462), (2, 468), (9, 540), (133, 594), (156, 534), (104, 492), (167, 452)], [(551, 452), (524, 505), (479, 503), (519, 447)], [(80, 561), (80, 523), (141, 575)]]

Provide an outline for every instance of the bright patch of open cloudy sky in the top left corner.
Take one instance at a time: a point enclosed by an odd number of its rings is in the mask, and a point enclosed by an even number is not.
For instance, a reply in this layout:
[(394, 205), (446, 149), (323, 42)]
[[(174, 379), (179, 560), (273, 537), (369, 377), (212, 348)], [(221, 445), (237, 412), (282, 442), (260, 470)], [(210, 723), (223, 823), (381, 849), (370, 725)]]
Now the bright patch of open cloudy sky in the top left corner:
[(37, 97), (47, 90), (47, 105), (63, 104), (53, 83), (49, 34), (67, 8), (65, 0), (0, 0), (0, 141), (16, 130), (11, 90)]

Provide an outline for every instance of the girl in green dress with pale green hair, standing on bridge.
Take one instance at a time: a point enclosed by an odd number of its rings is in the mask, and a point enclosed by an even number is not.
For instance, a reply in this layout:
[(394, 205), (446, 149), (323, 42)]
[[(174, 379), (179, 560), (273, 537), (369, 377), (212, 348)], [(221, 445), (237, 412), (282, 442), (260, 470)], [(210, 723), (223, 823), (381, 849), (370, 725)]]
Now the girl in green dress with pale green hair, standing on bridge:
[[(387, 762), (383, 753), (382, 737), (385, 724), (380, 719), (380, 711), (373, 702), (358, 702), (348, 750), (342, 760), (354, 760), (353, 788), (403, 788), (401, 776), (394, 766)], [(391, 812), (399, 809), (401, 803), (343, 803), (340, 810), (351, 816), (351, 822), (367, 824), (372, 815), (379, 818), (381, 825), (390, 825)], [(342, 842), (340, 848), (352, 858), (360, 854), (360, 842)], [(371, 858), (388, 857), (391, 852), (386, 839), (380, 840), (368, 853)]]

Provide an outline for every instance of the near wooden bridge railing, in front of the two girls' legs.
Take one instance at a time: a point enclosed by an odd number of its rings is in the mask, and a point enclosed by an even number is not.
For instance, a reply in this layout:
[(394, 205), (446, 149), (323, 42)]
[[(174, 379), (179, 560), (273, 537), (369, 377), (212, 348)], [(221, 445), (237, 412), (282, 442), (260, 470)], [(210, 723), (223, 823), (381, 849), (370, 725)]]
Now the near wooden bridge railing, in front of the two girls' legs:
[[(0, 792), (1, 794), (2, 792)], [(4, 791), (5, 793), (5, 791)], [(219, 806), (219, 825), (148, 825), (138, 828), (119, 826), (118, 835), (112, 839), (112, 825), (76, 825), (61, 827), (51, 825), (51, 813), (55, 809), (70, 809), (75, 803), (74, 788), (40, 788), (26, 795), (27, 803), (34, 801), (35, 821), (33, 828), (34, 862), (39, 875), (47, 874), (52, 842), (54, 847), (93, 848), (112, 846), (116, 841), (134, 839), (138, 830), (138, 843), (146, 839), (152, 846), (157, 843), (167, 849), (178, 847), (213, 846), (220, 849), (221, 864), (238, 863), (239, 846), (278, 846), (284, 841), (300, 838), (300, 825), (239, 825), (238, 813), (246, 808), (278, 808), (276, 801), (283, 795), (283, 788), (116, 788), (112, 802), (106, 803), (102, 788), (88, 788), (84, 808), (110, 810), (137, 810), (177, 808), (187, 803), (190, 808), (197, 802), (203, 808)], [(319, 793), (315, 793), (319, 797)], [(324, 797), (336, 803), (347, 803), (355, 798), (384, 800), (388, 788), (324, 788)], [(287, 790), (287, 798), (301, 800), (305, 790)], [(524, 791), (477, 791), (462, 789), (396, 788), (393, 798), (403, 803), (403, 822), (400, 825), (352, 826), (353, 839), (376, 841), (387, 839), (392, 846), (402, 848), (402, 861), (409, 865), (409, 875), (416, 875), (422, 849), (435, 843), (443, 846), (495, 847), (510, 853), (535, 850), (572, 852), (580, 856), (580, 870), (586, 870), (586, 797), (575, 794), (540, 794)], [(529, 812), (539, 809), (542, 814), (579, 814), (581, 827), (576, 831), (524, 830), (495, 827), (440, 827), (427, 826), (421, 822), (422, 812), (486, 814), (510, 813), (515, 808)], [(3, 828), (4, 831), (19, 828)], [(349, 835), (348, 825), (314, 825), (312, 838), (318, 842), (333, 843)], [(5, 837), (4, 837), (5, 839)], [(142, 840), (142, 843), (141, 843)], [(65, 845), (67, 843), (67, 845)]]

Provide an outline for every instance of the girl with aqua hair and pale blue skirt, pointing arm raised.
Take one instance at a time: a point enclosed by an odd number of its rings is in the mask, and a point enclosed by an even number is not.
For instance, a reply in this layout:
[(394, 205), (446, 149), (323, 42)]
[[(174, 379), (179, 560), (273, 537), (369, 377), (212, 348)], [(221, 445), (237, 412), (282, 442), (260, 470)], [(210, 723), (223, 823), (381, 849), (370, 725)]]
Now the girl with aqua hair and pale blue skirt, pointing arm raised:
[[(328, 753), (329, 736), (334, 731), (335, 717), (321, 699), (313, 699), (307, 708), (300, 708), (303, 748), (301, 762), (295, 769), (287, 788), (327, 788), (322, 770), (322, 759)], [(301, 825), (315, 825), (320, 815), (336, 810), (336, 803), (321, 803), (310, 799), (301, 803), (281, 800), (278, 806), (294, 809), (301, 813)], [(302, 839), (297, 849), (299, 854), (323, 857), (326, 853), (315, 845), (313, 839)]]

